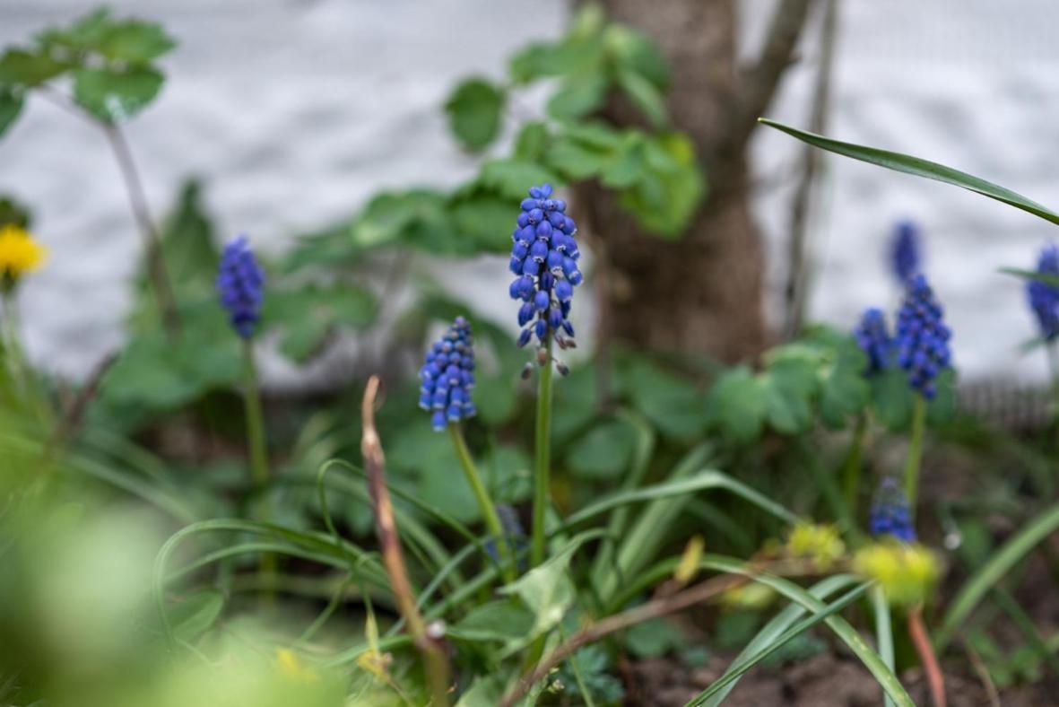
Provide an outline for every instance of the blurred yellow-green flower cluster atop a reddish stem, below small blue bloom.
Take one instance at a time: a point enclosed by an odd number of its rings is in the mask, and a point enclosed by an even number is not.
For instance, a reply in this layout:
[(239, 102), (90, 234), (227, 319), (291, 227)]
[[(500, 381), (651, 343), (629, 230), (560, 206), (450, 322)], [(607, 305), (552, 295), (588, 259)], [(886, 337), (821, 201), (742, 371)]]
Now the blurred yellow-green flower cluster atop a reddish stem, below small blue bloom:
[(940, 576), (937, 558), (929, 548), (892, 540), (858, 550), (854, 571), (878, 582), (886, 599), (901, 606), (926, 601)]

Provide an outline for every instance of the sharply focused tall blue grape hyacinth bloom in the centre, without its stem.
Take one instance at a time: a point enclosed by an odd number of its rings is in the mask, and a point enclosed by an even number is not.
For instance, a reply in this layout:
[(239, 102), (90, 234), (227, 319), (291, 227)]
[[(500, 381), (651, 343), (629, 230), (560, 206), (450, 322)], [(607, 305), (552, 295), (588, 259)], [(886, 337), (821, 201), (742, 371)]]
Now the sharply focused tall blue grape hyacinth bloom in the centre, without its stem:
[(569, 321), (574, 287), (584, 279), (577, 268), (580, 252), (574, 233), (577, 226), (568, 216), (567, 202), (553, 199), (552, 185), (530, 190), (522, 200), (522, 213), (511, 233), (510, 270), (517, 277), (508, 288), (511, 299), (522, 300), (519, 307), (519, 346), (534, 336), (543, 344), (550, 335), (560, 332), (574, 335)]

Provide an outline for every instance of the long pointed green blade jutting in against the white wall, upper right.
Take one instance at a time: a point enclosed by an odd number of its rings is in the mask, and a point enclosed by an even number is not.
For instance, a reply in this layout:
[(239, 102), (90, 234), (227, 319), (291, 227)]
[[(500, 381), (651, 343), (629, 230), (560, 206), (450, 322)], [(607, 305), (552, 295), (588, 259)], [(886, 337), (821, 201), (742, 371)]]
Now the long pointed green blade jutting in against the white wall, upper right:
[(887, 170), (894, 170), (895, 172), (903, 172), (917, 177), (925, 177), (927, 179), (934, 179), (947, 184), (962, 187), (963, 189), (982, 194), (983, 196), (988, 196), (991, 199), (997, 199), (998, 201), (1002, 201), (1008, 206), (1012, 206), (1016, 209), (1021, 209), (1022, 211), (1031, 213), (1035, 216), (1040, 216), (1041, 218), (1052, 222), (1053, 224), (1059, 224), (1059, 214), (1048, 210), (1046, 207), (1043, 207), (1036, 201), (1031, 201), (1025, 196), (1017, 194), (1009, 189), (1005, 189), (1004, 187), (986, 181), (985, 179), (969, 175), (966, 172), (953, 170), (952, 167), (945, 166), (944, 164), (931, 162), (918, 157), (912, 157), (910, 155), (892, 153), (885, 149), (878, 149), (876, 147), (866, 147), (864, 145), (856, 145), (850, 142), (831, 140), (830, 138), (798, 130), (797, 128), (765, 118), (759, 118), (758, 121), (765, 125), (791, 135), (803, 142), (820, 147), (821, 149), (826, 149), (845, 157), (851, 157), (852, 159), (883, 166)]

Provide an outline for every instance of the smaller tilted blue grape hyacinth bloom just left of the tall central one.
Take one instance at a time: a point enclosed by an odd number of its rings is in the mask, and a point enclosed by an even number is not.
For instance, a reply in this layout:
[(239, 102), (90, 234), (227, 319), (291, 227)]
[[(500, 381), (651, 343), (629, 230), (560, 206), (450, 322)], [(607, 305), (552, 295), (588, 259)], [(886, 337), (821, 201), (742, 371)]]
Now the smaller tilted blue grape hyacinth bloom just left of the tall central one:
[(450, 422), (477, 413), (471, 401), (474, 387), (474, 341), (470, 323), (456, 317), (445, 335), (427, 351), (419, 369), (419, 407), (432, 410), (431, 424), (442, 431)]

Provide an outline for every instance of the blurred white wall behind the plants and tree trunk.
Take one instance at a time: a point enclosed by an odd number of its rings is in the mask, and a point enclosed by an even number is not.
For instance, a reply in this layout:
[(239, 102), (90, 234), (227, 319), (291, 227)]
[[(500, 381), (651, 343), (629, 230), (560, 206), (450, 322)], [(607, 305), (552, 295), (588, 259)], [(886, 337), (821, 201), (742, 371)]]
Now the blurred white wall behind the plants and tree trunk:
[[(221, 233), (247, 232), (266, 249), (349, 214), (380, 189), (453, 184), (471, 175), (474, 160), (448, 136), (441, 110), (447, 92), (469, 73), (499, 77), (514, 49), (558, 35), (569, 13), (559, 0), (539, 0), (532, 12), (515, 0), (109, 4), (161, 21), (180, 42), (164, 60), (169, 79), (160, 99), (128, 126), (154, 211), (163, 214), (179, 183), (199, 175)], [(772, 4), (742, 3), (748, 52)], [(1059, 206), (1059, 6), (840, 5), (830, 135), (934, 159)], [(93, 6), (5, 0), (0, 46)], [(770, 111), (803, 126), (819, 58), (819, 22), (811, 24), (802, 61)], [(774, 286), (784, 277), (789, 220), (783, 175), (797, 151), (790, 138), (767, 130), (753, 144)], [(116, 166), (96, 129), (39, 101), (0, 139), (0, 192), (29, 204), (35, 232), (51, 248), (48, 266), (22, 291), (31, 355), (83, 375), (119, 344), (130, 304), (127, 279), (140, 238)], [(841, 158), (825, 160), (823, 176), (810, 318), (845, 328), (864, 306), (892, 306), (886, 241), (897, 219), (912, 218), (925, 233), (927, 271), (951, 319), (963, 377), (1043, 379), (1043, 356), (1017, 351), (1034, 334), (1021, 283), (997, 268), (1033, 265), (1054, 227), (951, 187)], [(496, 272), (496, 284), (448, 279), (497, 317), (514, 317), (506, 298), (492, 291), (506, 286), (503, 263), (461, 269)], [(579, 298), (586, 318), (588, 303)]]

